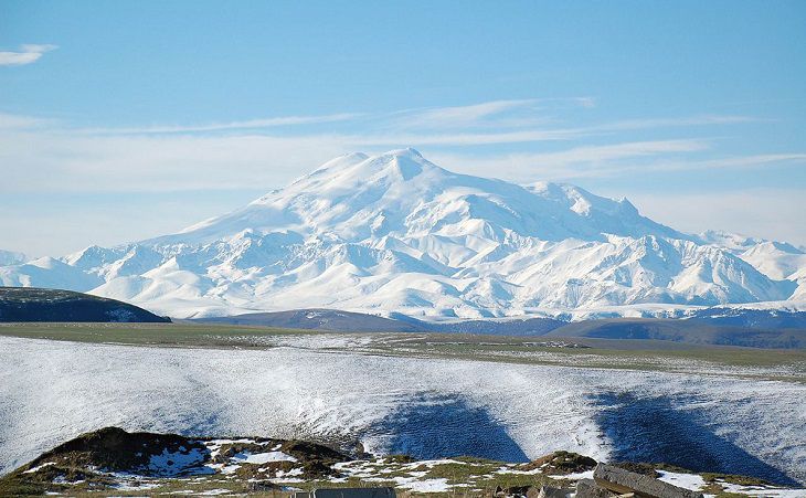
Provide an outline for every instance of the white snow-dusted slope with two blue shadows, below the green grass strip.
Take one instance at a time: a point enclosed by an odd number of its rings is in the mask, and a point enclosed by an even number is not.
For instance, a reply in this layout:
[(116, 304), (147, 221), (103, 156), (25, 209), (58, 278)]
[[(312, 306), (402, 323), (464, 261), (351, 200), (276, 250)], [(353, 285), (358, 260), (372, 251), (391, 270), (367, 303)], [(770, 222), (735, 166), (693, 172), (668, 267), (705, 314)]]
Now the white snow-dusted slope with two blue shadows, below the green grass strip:
[(370, 452), (417, 458), (524, 462), (555, 449), (601, 459), (664, 455), (689, 467), (806, 481), (800, 383), (294, 346), (168, 349), (0, 338), (0, 471), (109, 425), (360, 439)]

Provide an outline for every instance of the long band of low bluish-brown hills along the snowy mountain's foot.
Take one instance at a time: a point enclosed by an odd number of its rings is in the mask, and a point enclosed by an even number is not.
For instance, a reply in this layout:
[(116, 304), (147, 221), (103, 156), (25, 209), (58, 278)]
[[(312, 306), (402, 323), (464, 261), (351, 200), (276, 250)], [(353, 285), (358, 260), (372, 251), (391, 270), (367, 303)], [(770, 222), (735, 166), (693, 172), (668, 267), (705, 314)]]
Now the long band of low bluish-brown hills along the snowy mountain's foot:
[(392, 314), (389, 318), (338, 309), (297, 309), (199, 318), (205, 324), (248, 325), (340, 332), (443, 332), (490, 336), (543, 336), (588, 339), (643, 339), (752, 348), (806, 348), (806, 314), (770, 310), (703, 310), (691, 318), (612, 318), (561, 321), (512, 318), (425, 321)]

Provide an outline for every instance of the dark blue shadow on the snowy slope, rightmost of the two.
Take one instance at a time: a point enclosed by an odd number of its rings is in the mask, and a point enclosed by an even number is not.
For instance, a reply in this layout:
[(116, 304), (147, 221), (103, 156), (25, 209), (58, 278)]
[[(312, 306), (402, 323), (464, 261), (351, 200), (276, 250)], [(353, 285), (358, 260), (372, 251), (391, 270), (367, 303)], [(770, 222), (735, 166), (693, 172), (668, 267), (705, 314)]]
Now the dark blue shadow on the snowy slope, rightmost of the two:
[(783, 470), (714, 434), (701, 414), (676, 409), (668, 398), (603, 393), (595, 401), (602, 407), (596, 423), (615, 447), (614, 460), (666, 463), (694, 471), (739, 474), (785, 486), (798, 485)]

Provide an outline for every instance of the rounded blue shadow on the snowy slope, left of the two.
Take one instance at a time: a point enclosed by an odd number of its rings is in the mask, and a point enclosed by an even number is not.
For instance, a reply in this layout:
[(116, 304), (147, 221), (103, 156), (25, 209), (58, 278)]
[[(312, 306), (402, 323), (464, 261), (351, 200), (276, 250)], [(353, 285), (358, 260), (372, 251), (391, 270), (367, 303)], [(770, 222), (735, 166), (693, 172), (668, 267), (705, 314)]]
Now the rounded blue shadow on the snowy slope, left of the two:
[(529, 462), (500, 422), (464, 400), (423, 395), (375, 425), (372, 433), (389, 437), (390, 453), (416, 459), (475, 456), (503, 462)]

